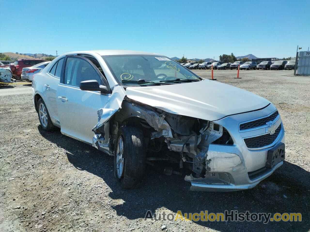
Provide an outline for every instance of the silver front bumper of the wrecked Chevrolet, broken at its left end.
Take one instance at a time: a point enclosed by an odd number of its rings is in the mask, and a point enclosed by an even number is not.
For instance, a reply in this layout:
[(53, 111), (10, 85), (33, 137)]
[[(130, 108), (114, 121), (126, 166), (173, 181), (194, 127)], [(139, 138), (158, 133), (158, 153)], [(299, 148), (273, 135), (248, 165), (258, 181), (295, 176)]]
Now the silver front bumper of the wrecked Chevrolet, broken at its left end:
[[(243, 122), (257, 120), (273, 114), (276, 111), (274, 105), (270, 104), (262, 110), (249, 113), (228, 116), (216, 123), (225, 127), (234, 145), (210, 144), (206, 160), (209, 172), (205, 178), (193, 178), (191, 190), (197, 191), (237, 191), (255, 187), (263, 179), (270, 176), (277, 168), (283, 164), (283, 160), (278, 161), (271, 169), (267, 168), (268, 151), (285, 143), (285, 133), (280, 115), (272, 122), (281, 126), (281, 131), (277, 138), (267, 146), (262, 148), (248, 148), (244, 139), (268, 134), (269, 125), (257, 128), (239, 130), (239, 125)], [(257, 117), (257, 116), (261, 117)]]

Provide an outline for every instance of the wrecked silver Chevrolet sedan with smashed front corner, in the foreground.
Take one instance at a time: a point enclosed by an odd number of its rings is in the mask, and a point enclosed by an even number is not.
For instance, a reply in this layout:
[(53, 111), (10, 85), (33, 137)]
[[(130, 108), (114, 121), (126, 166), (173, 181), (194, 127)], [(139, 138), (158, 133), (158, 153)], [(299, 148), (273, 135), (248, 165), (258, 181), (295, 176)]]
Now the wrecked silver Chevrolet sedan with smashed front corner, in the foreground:
[(32, 85), (41, 128), (113, 155), (125, 189), (139, 186), (147, 163), (166, 162), (166, 174), (181, 172), (205, 191), (252, 188), (283, 164), (284, 128), (272, 103), (160, 54), (71, 52)]

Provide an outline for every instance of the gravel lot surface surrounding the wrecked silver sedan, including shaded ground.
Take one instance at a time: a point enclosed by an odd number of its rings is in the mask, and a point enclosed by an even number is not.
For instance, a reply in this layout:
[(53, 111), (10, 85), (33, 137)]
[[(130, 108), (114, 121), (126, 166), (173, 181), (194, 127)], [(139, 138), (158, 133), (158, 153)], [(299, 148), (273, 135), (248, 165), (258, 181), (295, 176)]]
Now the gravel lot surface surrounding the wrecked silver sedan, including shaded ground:
[[(195, 70), (210, 78), (210, 70)], [(257, 187), (193, 192), (178, 175), (147, 171), (144, 185), (124, 191), (113, 157), (55, 131), (41, 129), (32, 94), (0, 94), (0, 231), (309, 231), (310, 77), (293, 71), (215, 70), (217, 81), (272, 101), (286, 131), (286, 161)], [(11, 85), (25, 91), (31, 85)], [(6, 90), (0, 89), (1, 91)], [(225, 94), (223, 92), (223, 94)], [(144, 221), (147, 210), (175, 214), (300, 212), (302, 222)]]

